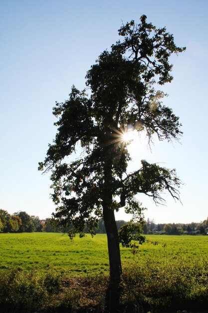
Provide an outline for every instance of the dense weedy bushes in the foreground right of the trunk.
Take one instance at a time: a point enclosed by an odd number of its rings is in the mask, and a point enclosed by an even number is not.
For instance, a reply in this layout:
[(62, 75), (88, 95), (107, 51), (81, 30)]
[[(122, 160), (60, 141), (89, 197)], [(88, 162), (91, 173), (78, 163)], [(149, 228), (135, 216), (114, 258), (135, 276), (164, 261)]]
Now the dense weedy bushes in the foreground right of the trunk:
[[(135, 258), (123, 270), (122, 302), (152, 312), (208, 308), (208, 258), (183, 255)], [(138, 304), (139, 303), (139, 304)]]

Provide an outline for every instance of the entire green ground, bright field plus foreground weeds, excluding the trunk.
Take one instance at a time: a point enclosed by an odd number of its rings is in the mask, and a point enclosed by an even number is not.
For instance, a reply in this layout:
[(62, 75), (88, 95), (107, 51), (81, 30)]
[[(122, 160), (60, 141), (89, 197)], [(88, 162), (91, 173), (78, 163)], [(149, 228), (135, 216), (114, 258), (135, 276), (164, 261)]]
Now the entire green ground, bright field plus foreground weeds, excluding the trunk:
[[(208, 236), (147, 235), (122, 248), (121, 311), (208, 311)], [(103, 312), (107, 238), (0, 233), (0, 309)]]

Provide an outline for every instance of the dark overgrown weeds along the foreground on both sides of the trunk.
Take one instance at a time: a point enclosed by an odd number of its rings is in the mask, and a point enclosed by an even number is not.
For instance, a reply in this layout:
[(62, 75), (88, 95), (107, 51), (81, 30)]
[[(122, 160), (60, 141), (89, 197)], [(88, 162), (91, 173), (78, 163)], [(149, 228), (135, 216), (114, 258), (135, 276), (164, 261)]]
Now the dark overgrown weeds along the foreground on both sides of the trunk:
[[(5, 312), (103, 312), (107, 275), (69, 277), (17, 268), (0, 271), (0, 310)], [(183, 250), (160, 257), (139, 253), (123, 269), (121, 312), (208, 311), (208, 257)]]

